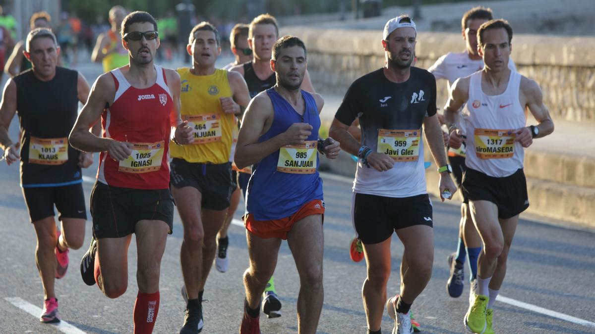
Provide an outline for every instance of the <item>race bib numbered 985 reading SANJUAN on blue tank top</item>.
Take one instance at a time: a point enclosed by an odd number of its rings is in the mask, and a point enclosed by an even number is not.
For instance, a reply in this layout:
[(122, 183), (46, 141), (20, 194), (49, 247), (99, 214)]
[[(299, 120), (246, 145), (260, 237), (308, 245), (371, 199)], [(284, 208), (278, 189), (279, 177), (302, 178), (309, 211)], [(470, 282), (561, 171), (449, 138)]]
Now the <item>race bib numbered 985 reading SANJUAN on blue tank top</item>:
[(316, 172), (316, 140), (303, 144), (286, 145), (279, 149), (277, 171), (291, 174), (314, 174)]

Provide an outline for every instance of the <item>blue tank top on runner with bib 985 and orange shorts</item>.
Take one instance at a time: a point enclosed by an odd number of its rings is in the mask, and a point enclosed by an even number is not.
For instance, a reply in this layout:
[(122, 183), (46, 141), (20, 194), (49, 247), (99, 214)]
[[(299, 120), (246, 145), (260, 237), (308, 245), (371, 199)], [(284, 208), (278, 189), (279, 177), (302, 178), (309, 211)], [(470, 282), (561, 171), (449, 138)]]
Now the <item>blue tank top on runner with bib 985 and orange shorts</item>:
[(286, 218), (312, 200), (322, 200), (322, 179), (318, 175), (317, 140), (320, 116), (312, 94), (302, 90), (306, 108), (298, 114), (274, 88), (267, 94), (273, 103), (271, 128), (259, 143), (284, 133), (294, 123), (312, 125), (304, 144), (287, 145), (264, 157), (252, 172), (246, 195), (246, 213), (256, 220)]

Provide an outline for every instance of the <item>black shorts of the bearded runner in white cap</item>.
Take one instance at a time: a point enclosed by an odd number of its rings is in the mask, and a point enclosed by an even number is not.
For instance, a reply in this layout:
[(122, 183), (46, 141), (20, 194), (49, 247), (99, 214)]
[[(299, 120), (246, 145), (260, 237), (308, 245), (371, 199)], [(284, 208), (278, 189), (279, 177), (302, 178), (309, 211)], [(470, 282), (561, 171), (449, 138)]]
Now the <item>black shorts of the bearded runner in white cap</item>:
[(355, 194), (353, 224), (359, 240), (377, 244), (397, 229), (414, 225), (433, 227), (432, 203), (428, 194), (400, 198)]

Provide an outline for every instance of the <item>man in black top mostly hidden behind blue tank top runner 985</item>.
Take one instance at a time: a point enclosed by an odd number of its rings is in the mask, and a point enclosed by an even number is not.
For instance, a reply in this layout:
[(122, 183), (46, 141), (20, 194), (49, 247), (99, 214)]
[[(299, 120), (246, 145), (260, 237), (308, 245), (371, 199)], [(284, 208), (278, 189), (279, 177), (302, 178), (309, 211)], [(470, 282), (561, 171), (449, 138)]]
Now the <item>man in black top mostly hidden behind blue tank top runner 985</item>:
[[(253, 53), (252, 62), (231, 68), (231, 71), (237, 71), (243, 75), (246, 84), (248, 84), (250, 97), (255, 97), (258, 93), (270, 89), (277, 82), (275, 73), (271, 69), (271, 59), (273, 56), (273, 45), (278, 38), (279, 26), (277, 19), (272, 15), (261, 14), (250, 22), (248, 45)], [(306, 70), (300, 88), (306, 92), (314, 93), (314, 87), (312, 87), (308, 70)], [(242, 189), (244, 196), (246, 196), (249, 179), (249, 173), (240, 172), (237, 175), (237, 183)], [(267, 283), (263, 298), (262, 310), (267, 314), (267, 317), (280, 317), (281, 301), (277, 297), (273, 276), (271, 276), (271, 280)]]

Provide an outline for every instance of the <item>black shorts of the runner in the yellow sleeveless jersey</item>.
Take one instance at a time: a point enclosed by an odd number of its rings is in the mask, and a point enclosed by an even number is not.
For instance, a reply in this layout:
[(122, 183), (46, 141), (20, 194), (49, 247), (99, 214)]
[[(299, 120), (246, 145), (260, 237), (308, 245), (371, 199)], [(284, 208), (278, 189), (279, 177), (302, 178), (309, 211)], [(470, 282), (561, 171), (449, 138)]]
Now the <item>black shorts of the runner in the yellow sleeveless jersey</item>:
[(231, 162), (195, 163), (174, 157), (170, 163), (170, 184), (176, 188), (194, 187), (202, 194), (201, 206), (209, 210), (229, 207), (235, 189), (231, 181)]

